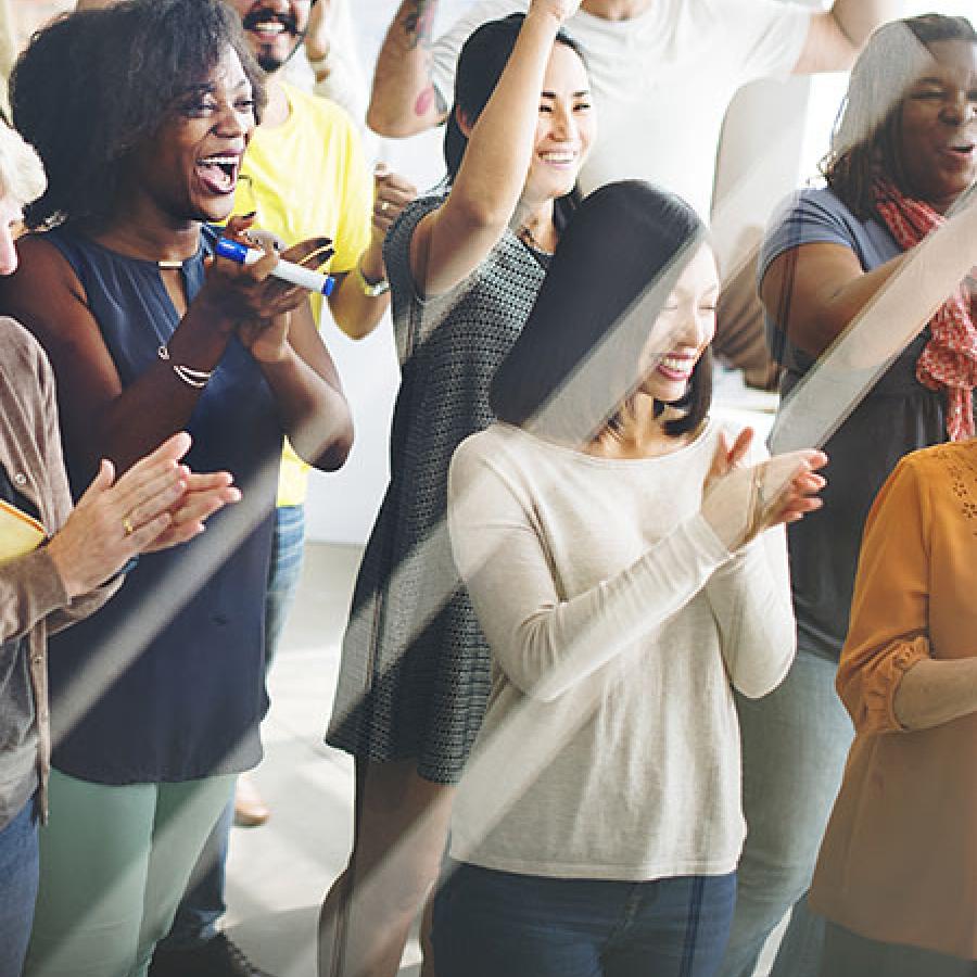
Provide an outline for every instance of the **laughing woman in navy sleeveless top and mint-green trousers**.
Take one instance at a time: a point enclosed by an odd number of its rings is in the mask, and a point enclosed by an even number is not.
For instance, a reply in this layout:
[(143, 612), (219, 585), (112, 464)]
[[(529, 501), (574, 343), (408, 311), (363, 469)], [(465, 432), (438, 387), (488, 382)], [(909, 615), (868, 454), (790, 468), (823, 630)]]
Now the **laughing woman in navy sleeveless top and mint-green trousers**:
[(65, 16), (34, 37), (12, 101), (48, 169), (28, 224), (56, 226), (18, 242), (0, 308), (51, 359), (73, 486), (100, 457), (124, 470), (186, 428), (188, 460), (244, 495), (52, 642), (52, 814), (26, 973), (140, 977), (236, 774), (261, 757), (282, 436), (334, 468), (350, 415), (307, 293), (269, 277), (278, 258), (212, 256), (206, 223), (231, 211), (263, 101), (230, 8), (128, 0)]

